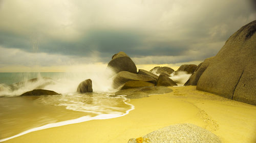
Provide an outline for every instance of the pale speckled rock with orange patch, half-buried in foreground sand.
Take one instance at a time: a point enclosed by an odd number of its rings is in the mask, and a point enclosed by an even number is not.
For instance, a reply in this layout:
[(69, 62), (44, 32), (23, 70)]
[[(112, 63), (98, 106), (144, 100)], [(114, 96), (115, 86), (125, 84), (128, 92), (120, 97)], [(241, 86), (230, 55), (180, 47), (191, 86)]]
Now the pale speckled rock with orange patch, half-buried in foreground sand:
[(128, 143), (138, 142), (220, 143), (221, 139), (212, 132), (194, 124), (175, 124), (153, 131), (143, 137), (131, 138), (128, 141)]

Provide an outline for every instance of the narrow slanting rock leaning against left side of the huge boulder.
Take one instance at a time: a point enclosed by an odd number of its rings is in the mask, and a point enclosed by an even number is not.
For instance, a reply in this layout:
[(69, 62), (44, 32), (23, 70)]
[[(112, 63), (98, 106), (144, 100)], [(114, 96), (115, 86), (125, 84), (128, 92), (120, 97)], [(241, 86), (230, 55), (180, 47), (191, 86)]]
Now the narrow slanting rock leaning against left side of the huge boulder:
[(210, 61), (213, 59), (214, 57), (211, 58), (207, 58), (204, 60), (204, 62), (200, 63), (198, 65), (198, 68), (196, 69), (195, 73), (193, 73), (190, 78), (187, 80), (187, 82), (184, 84), (185, 86), (187, 85), (197, 85), (197, 82), (200, 78), (200, 76), (203, 74), (203, 72), (205, 71), (205, 69), (209, 66)]

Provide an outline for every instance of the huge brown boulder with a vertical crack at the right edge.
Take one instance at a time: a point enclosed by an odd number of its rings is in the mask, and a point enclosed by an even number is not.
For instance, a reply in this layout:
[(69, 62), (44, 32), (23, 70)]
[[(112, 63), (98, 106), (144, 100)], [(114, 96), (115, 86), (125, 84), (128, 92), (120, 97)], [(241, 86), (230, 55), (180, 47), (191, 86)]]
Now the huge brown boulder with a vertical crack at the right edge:
[(256, 20), (234, 33), (211, 61), (197, 90), (256, 105)]

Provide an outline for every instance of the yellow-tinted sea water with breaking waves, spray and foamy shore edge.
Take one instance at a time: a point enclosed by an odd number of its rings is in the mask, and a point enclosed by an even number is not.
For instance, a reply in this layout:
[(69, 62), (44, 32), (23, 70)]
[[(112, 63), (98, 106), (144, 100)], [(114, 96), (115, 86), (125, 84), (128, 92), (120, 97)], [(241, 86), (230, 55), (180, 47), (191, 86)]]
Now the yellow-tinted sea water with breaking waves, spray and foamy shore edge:
[[(115, 90), (109, 74), (0, 73), (0, 142), (36, 130), (126, 115), (134, 106), (122, 96), (110, 96)], [(78, 84), (88, 78), (94, 92), (77, 93)], [(34, 89), (61, 95), (19, 96)]]

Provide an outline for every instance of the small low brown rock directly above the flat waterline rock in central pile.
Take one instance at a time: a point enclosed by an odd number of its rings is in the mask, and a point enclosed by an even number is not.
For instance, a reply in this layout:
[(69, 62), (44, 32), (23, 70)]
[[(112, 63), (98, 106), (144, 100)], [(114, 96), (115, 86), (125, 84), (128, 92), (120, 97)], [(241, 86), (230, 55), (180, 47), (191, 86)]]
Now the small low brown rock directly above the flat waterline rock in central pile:
[(155, 84), (150, 82), (131, 80), (131, 81), (125, 82), (121, 90), (140, 88), (140, 87), (154, 87), (154, 86)]

